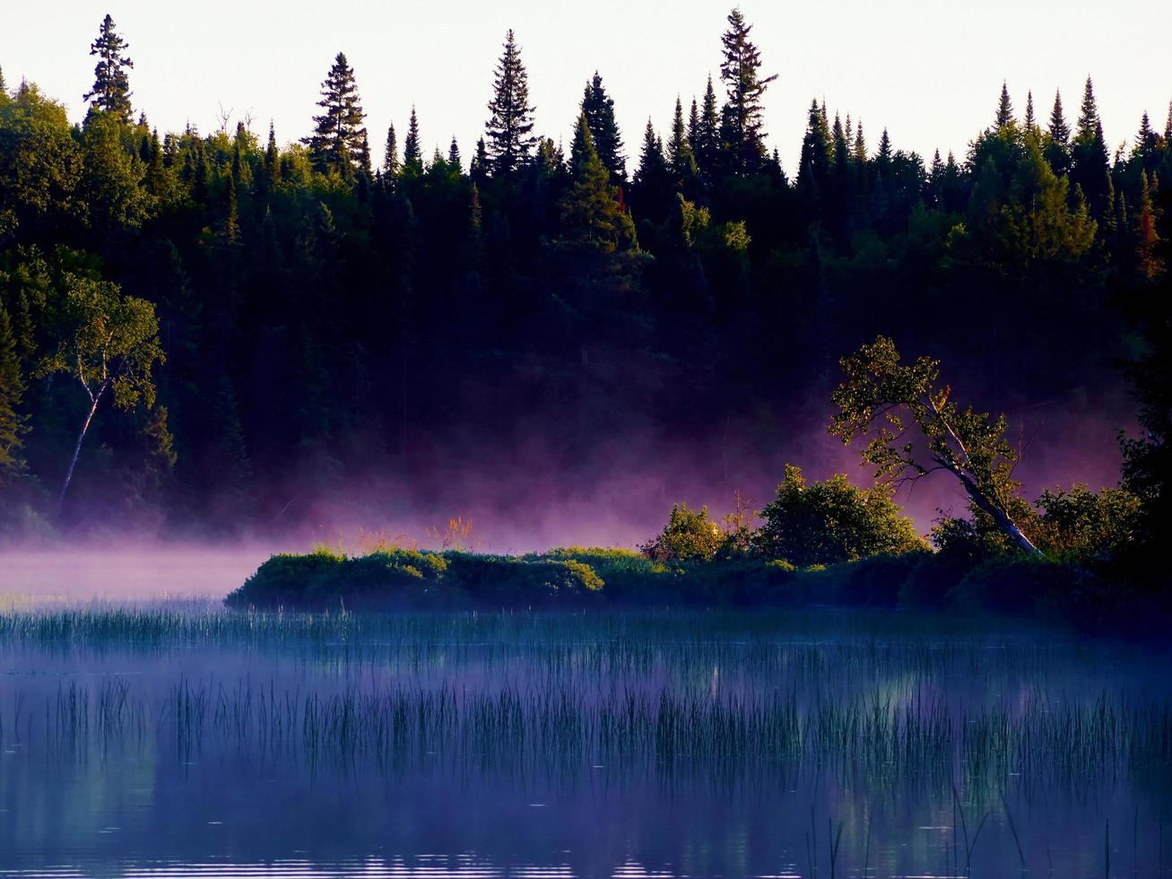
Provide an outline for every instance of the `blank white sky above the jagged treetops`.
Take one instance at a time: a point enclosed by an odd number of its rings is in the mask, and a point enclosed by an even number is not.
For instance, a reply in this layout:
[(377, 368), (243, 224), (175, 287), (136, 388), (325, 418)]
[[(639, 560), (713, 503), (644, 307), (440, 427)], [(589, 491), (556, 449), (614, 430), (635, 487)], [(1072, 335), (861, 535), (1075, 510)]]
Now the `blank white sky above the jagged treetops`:
[[(550, 0), (440, 4), (357, 0), (5, 0), (0, 67), (84, 113), (93, 81), (90, 41), (109, 12), (130, 43), (136, 111), (161, 131), (190, 120), (207, 132), (219, 108), (231, 125), (251, 114), (272, 118), (281, 142), (304, 136), (333, 56), (355, 68), (376, 157), (388, 122), (403, 132), (418, 108), (425, 151), (447, 151), (455, 134), (466, 163), (488, 117), (492, 67), (506, 28), (517, 32), (537, 104), (537, 128), (568, 146), (582, 86), (595, 68), (615, 100), (634, 170), (646, 120), (666, 131), (679, 91), (687, 108), (717, 75), (729, 0)], [(931, 157), (989, 123), (1002, 80), (1018, 115), (1034, 90), (1040, 115), (1061, 88), (1074, 123), (1086, 74), (1112, 149), (1133, 136), (1147, 109), (1163, 130), (1172, 98), (1172, 2), (1119, 6), (1089, 0), (839, 0), (782, 4), (743, 0), (764, 73), (779, 74), (766, 97), (770, 145), (792, 172), (810, 98), (831, 114), (864, 120), (868, 145), (883, 127), (897, 148)], [(718, 86), (718, 83), (717, 83)]]

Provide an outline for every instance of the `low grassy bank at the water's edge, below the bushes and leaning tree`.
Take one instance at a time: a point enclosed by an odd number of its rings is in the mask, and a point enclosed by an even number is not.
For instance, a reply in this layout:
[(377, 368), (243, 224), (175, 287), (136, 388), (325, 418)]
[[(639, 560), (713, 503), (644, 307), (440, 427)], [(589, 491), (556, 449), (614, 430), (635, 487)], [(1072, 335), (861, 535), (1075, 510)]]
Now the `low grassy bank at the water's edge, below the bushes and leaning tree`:
[(1099, 622), (1124, 597), (1072, 565), (972, 563), (939, 552), (797, 568), (732, 558), (656, 561), (612, 548), (526, 556), (331, 550), (274, 556), (226, 604), (246, 608), (438, 609), (601, 606), (935, 608)]

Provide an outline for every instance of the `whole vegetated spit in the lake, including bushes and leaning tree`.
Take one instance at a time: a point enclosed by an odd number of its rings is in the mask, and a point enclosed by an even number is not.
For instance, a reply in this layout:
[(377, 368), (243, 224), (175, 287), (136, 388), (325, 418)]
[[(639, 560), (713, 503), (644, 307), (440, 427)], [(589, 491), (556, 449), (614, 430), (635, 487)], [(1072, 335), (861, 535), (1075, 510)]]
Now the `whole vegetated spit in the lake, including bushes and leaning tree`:
[[(737, 499), (718, 523), (676, 504), (639, 551), (570, 546), (490, 556), (382, 544), (363, 554), (319, 547), (268, 559), (230, 607), (348, 609), (803, 606), (935, 608), (1038, 615), (1084, 627), (1158, 633), (1167, 591), (1142, 538), (1144, 499), (1126, 488), (1045, 491), (1013, 478), (1003, 416), (962, 408), (939, 363), (904, 364), (878, 338), (841, 361), (830, 432), (867, 441), (875, 483), (808, 481), (786, 466), (759, 512)], [(933, 473), (959, 481), (969, 516), (927, 539), (894, 500)]]

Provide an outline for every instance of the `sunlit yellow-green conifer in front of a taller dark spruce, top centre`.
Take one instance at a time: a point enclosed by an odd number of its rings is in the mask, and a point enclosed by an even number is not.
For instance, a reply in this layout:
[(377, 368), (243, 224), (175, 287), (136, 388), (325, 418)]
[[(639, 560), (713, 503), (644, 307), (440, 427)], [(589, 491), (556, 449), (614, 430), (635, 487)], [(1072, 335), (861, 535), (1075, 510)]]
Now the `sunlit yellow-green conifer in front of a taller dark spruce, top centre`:
[(594, 148), (585, 111), (574, 129), (574, 185), (561, 199), (561, 227), (567, 240), (606, 253), (636, 248), (635, 225), (611, 185), (611, 171)]

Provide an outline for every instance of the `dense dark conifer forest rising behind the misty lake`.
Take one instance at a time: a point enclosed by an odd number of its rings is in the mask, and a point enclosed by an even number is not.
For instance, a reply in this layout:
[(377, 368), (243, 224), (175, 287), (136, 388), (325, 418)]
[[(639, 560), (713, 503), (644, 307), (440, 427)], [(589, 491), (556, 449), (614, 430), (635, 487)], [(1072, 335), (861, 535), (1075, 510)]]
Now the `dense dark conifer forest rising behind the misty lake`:
[(663, 132), (620, 132), (593, 73), (568, 151), (512, 32), (484, 136), (430, 156), (414, 111), (373, 128), (341, 53), (292, 142), (157, 131), (110, 16), (81, 124), (0, 74), (0, 533), (319, 525), (306, 498), (341, 486), (570, 492), (708, 454), (713, 424), (830, 444), (838, 359), (879, 333), (982, 409), (1127, 389), (1122, 479), (1168, 533), (1172, 111), (1112, 151), (1090, 79), (1070, 110), (1006, 88), (965, 155), (926, 158), (813, 101), (786, 171), (738, 11), (720, 40)]

